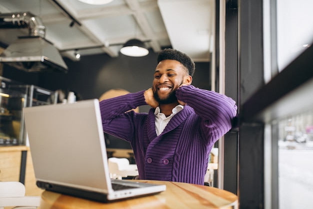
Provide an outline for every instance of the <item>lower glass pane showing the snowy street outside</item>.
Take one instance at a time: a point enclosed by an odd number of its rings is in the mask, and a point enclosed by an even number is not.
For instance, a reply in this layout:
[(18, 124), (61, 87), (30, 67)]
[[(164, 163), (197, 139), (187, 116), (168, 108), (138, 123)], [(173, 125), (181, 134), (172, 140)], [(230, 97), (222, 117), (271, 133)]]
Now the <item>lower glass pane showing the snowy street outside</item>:
[(312, 208), (313, 111), (278, 123), (279, 208)]

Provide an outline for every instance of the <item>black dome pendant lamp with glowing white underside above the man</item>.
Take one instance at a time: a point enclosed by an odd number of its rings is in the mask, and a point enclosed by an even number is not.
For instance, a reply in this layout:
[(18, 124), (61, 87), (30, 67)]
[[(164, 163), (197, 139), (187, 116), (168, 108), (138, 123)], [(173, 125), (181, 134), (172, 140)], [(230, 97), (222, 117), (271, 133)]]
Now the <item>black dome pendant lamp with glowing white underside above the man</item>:
[(120, 49), (120, 53), (130, 57), (143, 57), (149, 54), (149, 51), (145, 48), (142, 41), (130, 39)]

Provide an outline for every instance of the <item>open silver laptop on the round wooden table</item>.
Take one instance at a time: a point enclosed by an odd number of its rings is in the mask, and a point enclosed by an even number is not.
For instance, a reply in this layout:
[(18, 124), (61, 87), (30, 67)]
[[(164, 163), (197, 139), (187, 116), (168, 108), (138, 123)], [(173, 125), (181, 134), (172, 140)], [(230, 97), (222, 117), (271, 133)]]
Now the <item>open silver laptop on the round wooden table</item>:
[(23, 114), (38, 187), (101, 202), (166, 189), (110, 179), (97, 99), (26, 107)]

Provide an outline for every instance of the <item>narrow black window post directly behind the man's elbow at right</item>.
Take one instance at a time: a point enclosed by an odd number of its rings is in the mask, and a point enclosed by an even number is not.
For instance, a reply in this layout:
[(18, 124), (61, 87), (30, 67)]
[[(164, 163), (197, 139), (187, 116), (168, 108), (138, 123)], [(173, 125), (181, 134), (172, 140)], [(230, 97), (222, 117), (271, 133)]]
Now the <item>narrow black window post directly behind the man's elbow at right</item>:
[[(237, 1), (231, 0), (225, 3), (225, 95), (239, 104), (238, 8)], [(237, 129), (232, 129), (224, 135), (223, 189), (238, 194)]]

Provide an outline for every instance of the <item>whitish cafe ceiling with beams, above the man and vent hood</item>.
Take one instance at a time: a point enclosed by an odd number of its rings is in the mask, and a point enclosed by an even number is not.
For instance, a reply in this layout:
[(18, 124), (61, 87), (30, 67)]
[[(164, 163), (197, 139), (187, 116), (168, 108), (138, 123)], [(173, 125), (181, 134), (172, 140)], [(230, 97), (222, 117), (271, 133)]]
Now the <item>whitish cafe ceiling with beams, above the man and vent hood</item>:
[[(129, 39), (139, 39), (154, 52), (172, 47), (195, 62), (208, 62), (213, 49), (215, 0), (113, 0), (88, 5), (78, 0), (1, 0), (0, 13), (30, 12), (41, 18), (50, 42), (63, 57), (106, 53), (119, 56)], [(1, 29), (8, 46), (27, 29)]]

